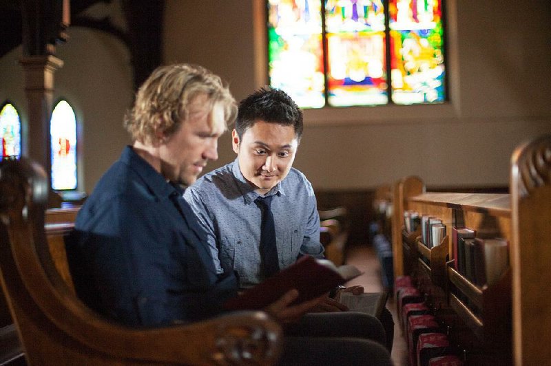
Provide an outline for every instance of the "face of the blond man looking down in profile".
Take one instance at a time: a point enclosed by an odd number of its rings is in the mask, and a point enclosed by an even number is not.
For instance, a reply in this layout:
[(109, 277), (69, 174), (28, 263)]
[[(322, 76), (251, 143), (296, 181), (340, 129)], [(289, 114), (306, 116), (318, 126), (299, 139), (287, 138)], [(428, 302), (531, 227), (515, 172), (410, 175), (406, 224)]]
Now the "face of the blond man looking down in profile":
[(225, 130), (224, 112), (214, 105), (209, 113), (206, 95), (196, 96), (189, 117), (159, 147), (160, 173), (167, 180), (189, 186), (209, 160), (218, 159), (218, 138)]

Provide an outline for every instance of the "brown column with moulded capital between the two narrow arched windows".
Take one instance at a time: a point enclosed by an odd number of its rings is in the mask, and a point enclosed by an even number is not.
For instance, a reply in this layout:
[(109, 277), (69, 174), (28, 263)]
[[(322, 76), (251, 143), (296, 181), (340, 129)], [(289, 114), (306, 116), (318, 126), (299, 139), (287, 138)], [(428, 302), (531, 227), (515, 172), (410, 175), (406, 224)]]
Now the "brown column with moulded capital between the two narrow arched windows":
[(63, 66), (56, 56), (28, 56), (20, 61), (25, 70), (28, 101), (28, 136), (25, 155), (41, 164), (50, 175), (50, 116), (54, 93), (54, 72)]

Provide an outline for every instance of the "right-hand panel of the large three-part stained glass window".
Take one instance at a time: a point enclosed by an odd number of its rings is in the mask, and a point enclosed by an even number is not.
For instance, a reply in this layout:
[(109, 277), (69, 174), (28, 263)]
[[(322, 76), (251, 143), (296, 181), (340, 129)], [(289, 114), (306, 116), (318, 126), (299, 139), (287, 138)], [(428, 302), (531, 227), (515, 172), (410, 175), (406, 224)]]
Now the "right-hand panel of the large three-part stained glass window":
[(441, 0), (390, 0), (392, 100), (444, 102)]

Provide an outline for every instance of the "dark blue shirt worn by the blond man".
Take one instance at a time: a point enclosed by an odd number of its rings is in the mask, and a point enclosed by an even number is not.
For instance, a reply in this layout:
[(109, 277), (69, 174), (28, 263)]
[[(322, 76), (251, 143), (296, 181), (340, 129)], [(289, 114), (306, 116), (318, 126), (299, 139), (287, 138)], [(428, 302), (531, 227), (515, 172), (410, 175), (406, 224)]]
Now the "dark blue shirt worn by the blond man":
[(205, 233), (182, 198), (132, 147), (103, 175), (67, 243), (79, 296), (127, 325), (205, 319), (236, 296), (217, 275)]

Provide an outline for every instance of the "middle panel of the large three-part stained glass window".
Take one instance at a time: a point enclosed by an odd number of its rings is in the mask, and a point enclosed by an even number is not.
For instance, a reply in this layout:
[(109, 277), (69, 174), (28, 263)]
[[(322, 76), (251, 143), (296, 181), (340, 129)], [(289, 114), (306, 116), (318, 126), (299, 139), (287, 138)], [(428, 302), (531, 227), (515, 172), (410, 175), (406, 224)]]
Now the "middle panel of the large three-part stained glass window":
[(329, 104), (388, 103), (382, 1), (325, 1), (325, 20)]

